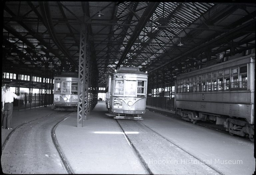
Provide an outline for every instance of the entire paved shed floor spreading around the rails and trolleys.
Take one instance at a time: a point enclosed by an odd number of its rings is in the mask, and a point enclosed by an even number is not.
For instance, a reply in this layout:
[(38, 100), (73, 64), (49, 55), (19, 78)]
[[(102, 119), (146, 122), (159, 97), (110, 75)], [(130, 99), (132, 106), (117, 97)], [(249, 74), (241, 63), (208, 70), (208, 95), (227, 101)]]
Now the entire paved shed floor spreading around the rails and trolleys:
[[(76, 127), (76, 114), (57, 126), (57, 140), (74, 173), (146, 174), (116, 120), (105, 113), (105, 103), (98, 102), (83, 128)], [(2, 150), (5, 173), (65, 173), (50, 136), (51, 127), (66, 117), (65, 112), (57, 114), (52, 106), (15, 111), (13, 128), (49, 114), (52, 115), (27, 123), (12, 134)], [(138, 121), (118, 121), (154, 174), (218, 174), (219, 171), (225, 175), (249, 175), (255, 170), (254, 144), (249, 140), (150, 111), (143, 118), (143, 124), (172, 143)], [(2, 129), (2, 143), (8, 133), (10, 130)]]

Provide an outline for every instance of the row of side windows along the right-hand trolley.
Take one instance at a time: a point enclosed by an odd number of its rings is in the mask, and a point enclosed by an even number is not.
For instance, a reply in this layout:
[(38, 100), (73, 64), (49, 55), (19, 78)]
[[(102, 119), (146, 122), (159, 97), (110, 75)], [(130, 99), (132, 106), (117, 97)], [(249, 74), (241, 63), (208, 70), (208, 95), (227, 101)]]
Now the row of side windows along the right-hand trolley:
[(177, 93), (247, 90), (247, 65), (183, 78), (177, 86)]

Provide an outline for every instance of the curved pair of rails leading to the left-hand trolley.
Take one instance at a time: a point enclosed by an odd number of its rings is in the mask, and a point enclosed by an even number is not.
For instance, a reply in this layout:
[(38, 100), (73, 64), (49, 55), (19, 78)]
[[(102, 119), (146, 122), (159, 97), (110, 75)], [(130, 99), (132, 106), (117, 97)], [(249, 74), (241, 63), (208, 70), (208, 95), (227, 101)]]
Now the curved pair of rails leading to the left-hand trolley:
[[(58, 113), (61, 113), (62, 111), (57, 111), (55, 113), (51, 113), (51, 114), (48, 114), (48, 115), (45, 115), (45, 116), (42, 116), (42, 117), (39, 117), (37, 119), (34, 119), (34, 120), (30, 120), (28, 122), (24, 122), (22, 123), (21, 125), (17, 126), (16, 128), (14, 128), (7, 136), (6, 138), (4, 139), (3, 143), (2, 143), (2, 152), (3, 150), (5, 149), (5, 146), (8, 142), (8, 140), (11, 138), (12, 134), (19, 128), (21, 128), (22, 126), (28, 124), (28, 123), (32, 123), (32, 122), (35, 122), (37, 120), (40, 120), (40, 119), (43, 119), (43, 118), (46, 118), (46, 117), (49, 117), (49, 116), (52, 116), (54, 114), (58, 114)], [(55, 130), (57, 128), (57, 126), (63, 122), (64, 120), (66, 120), (69, 116), (71, 116), (74, 112), (69, 112), (67, 114), (67, 117), (64, 117), (64, 119), (61, 119), (60, 121), (58, 121), (52, 128), (51, 128), (51, 139), (52, 139), (52, 143), (57, 151), (57, 153), (59, 154), (60, 156), (60, 160), (61, 160), (61, 163), (62, 163), (62, 166), (64, 167), (65, 171), (68, 173), (68, 174), (74, 174), (71, 166), (69, 165), (69, 162), (68, 160), (66, 159), (66, 157), (64, 156), (62, 150), (60, 149), (60, 146), (58, 144), (58, 141), (57, 141), (57, 138), (56, 138), (56, 135), (55, 135)]]

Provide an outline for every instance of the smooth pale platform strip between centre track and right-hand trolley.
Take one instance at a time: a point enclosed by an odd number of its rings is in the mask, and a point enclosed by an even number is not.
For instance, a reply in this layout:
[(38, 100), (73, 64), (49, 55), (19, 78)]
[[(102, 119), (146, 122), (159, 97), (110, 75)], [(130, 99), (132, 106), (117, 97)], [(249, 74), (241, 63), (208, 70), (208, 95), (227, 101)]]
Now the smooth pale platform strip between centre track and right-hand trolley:
[(255, 171), (254, 143), (250, 140), (150, 111), (143, 118), (151, 129), (223, 174), (249, 175)]

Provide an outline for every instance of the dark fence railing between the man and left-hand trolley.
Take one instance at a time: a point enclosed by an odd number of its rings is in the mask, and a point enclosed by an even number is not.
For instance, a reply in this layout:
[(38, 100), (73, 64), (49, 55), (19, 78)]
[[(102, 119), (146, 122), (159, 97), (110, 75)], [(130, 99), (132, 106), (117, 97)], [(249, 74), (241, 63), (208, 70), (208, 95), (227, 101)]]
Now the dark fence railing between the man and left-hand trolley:
[(24, 96), (23, 100), (14, 99), (13, 109), (31, 109), (40, 106), (47, 106), (53, 104), (53, 94), (20, 94)]

